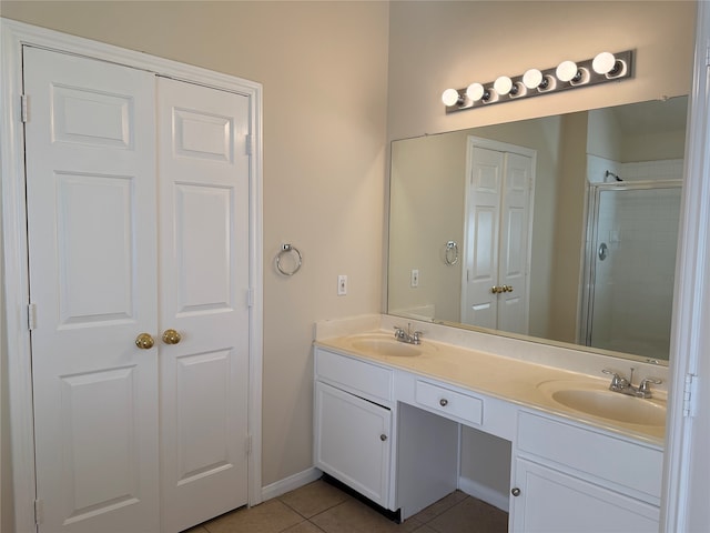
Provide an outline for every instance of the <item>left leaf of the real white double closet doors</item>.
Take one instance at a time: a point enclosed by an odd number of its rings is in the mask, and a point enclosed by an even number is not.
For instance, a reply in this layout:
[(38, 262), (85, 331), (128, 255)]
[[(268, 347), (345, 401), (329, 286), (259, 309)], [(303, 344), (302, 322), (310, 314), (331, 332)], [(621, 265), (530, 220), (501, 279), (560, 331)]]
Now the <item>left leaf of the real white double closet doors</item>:
[(40, 532), (159, 531), (154, 77), (24, 50)]

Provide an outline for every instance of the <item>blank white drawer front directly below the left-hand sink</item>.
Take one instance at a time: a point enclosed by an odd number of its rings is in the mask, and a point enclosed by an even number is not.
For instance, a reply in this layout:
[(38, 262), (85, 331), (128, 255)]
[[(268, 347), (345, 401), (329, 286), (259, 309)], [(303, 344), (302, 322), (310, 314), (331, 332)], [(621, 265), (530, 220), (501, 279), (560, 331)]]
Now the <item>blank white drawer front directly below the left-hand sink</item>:
[(393, 372), (382, 366), (316, 349), (315, 375), (373, 401), (392, 400)]

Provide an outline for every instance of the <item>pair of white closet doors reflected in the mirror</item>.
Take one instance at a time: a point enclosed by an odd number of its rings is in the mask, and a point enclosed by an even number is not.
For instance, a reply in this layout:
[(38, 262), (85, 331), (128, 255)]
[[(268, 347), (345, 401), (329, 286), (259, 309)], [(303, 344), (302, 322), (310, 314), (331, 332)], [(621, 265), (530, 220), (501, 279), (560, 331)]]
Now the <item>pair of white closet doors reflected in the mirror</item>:
[(469, 147), (464, 323), (528, 332), (532, 171), (530, 157)]

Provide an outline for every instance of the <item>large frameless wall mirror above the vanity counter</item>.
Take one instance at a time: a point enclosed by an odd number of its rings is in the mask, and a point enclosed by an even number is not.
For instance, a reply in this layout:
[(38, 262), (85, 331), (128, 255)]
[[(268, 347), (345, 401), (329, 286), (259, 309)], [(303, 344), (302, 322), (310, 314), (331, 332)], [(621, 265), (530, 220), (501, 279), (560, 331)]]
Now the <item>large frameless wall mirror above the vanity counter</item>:
[(394, 141), (387, 312), (668, 364), (687, 104)]

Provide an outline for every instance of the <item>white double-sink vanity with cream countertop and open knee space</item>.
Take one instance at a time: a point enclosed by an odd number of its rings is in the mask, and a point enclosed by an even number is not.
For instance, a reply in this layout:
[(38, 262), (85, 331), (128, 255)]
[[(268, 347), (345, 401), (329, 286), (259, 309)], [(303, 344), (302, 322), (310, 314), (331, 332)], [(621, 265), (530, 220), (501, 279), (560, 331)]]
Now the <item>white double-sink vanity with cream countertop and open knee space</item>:
[(463, 454), (488, 461), (463, 450), (467, 426), (510, 443), (509, 531), (658, 530), (663, 385), (632, 398), (601, 371), (632, 366), (636, 384), (667, 369), (426, 322), (409, 344), (395, 325), (407, 323), (316, 325), (317, 469), (406, 520), (464, 487)]

